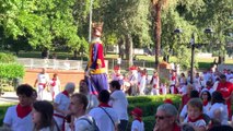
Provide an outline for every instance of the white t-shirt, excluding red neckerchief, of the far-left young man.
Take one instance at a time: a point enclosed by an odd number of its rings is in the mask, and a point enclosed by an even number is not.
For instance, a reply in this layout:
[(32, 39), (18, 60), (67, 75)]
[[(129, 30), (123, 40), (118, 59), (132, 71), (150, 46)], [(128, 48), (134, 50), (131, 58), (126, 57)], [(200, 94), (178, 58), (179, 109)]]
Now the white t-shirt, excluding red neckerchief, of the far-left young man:
[(8, 108), (3, 123), (9, 124), (12, 131), (32, 131), (34, 127), (32, 112), (21, 119), (16, 114), (16, 105)]

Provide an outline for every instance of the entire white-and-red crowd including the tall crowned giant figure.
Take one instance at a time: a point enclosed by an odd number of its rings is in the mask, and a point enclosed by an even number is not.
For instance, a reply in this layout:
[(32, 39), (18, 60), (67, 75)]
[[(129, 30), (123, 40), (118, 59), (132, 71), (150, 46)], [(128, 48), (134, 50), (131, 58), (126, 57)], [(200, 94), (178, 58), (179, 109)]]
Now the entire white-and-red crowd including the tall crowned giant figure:
[[(103, 23), (93, 23), (93, 41), (90, 46), (90, 61), (85, 79), (75, 84), (68, 82), (61, 91), (57, 74), (49, 80), (46, 69), (37, 75), (34, 90), (28, 84), (16, 88), (19, 104), (9, 107), (3, 119), (3, 131), (144, 131), (143, 111), (135, 107), (129, 126), (127, 95), (138, 96), (180, 94), (182, 104), (177, 109), (171, 99), (164, 100), (156, 109), (153, 131), (232, 131), (233, 72), (231, 70), (208, 71), (194, 82), (190, 73), (180, 76), (171, 71), (168, 81), (160, 81), (154, 71), (151, 79), (147, 70), (130, 67), (128, 75), (120, 74), (115, 67), (108, 76), (105, 71)], [(50, 92), (53, 103), (44, 100)], [(231, 127), (232, 126), (232, 127)]]

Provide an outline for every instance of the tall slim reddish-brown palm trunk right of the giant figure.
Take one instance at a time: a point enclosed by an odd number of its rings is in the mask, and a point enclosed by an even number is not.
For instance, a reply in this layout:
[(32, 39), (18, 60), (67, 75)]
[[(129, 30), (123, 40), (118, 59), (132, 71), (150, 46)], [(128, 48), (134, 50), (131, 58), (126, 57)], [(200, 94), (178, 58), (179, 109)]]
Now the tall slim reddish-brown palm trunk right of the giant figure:
[(155, 69), (158, 69), (159, 67), (159, 58), (160, 58), (160, 47), (161, 47), (161, 4), (160, 2), (158, 2), (154, 5), (154, 10), (155, 10), (155, 17), (154, 17), (154, 24), (155, 24), (155, 28), (154, 28), (154, 35), (155, 35)]

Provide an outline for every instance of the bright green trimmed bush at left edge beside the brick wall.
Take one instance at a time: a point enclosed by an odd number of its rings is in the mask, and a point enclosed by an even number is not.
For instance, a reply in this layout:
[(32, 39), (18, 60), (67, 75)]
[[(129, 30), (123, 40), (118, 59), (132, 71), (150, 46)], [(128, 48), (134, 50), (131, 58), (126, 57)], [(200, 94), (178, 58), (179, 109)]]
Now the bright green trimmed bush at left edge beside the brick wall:
[(0, 63), (1, 79), (15, 79), (24, 76), (24, 67), (18, 63)]

